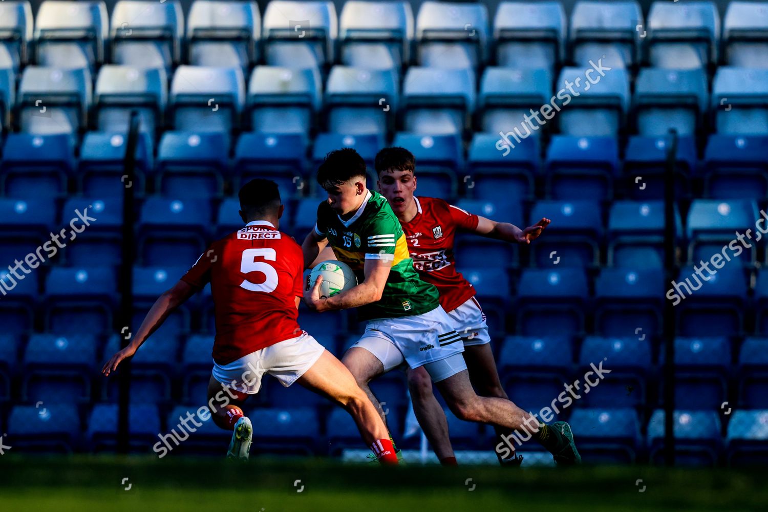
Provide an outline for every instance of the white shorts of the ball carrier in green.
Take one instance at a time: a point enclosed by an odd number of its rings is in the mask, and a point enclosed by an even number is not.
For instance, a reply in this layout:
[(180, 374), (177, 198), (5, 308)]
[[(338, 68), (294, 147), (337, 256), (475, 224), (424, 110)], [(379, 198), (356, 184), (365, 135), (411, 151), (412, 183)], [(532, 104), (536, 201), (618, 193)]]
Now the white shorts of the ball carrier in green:
[(384, 372), (403, 362), (409, 368), (424, 366), (434, 382), (467, 368), (461, 355), (462, 338), (441, 306), (422, 315), (371, 320), (352, 347), (365, 348), (375, 355), (384, 365)]

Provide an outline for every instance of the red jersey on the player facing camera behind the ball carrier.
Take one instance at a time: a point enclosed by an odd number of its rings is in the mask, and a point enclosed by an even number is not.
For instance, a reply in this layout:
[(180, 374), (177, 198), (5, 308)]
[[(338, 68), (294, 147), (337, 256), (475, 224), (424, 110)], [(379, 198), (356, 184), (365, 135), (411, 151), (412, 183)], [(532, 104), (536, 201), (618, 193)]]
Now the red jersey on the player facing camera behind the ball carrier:
[(435, 197), (414, 197), (416, 216), (401, 223), (414, 268), (426, 282), (437, 286), (440, 306), (453, 311), (475, 296), (472, 286), (456, 272), (453, 239), (457, 229), (474, 230), (478, 216)]

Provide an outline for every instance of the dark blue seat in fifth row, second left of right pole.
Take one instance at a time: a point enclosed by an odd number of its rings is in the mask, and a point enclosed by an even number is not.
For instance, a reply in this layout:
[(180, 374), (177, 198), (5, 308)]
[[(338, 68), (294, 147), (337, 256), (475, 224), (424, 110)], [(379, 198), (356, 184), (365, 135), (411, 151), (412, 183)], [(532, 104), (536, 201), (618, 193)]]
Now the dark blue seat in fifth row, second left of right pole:
[(584, 332), (588, 296), (587, 276), (581, 269), (523, 269), (517, 286), (517, 332), (526, 336)]

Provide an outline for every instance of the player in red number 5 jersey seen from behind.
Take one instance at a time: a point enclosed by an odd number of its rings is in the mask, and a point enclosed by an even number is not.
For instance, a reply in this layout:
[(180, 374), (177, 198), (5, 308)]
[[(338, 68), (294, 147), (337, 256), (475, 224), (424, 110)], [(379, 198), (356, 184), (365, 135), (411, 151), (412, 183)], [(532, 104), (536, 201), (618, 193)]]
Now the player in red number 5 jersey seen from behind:
[(283, 204), (276, 183), (252, 180), (244, 185), (240, 208), (246, 226), (210, 244), (157, 299), (131, 343), (102, 372), (114, 372), (170, 313), (210, 282), (216, 338), (208, 408), (220, 428), (233, 431), (227, 457), (247, 460), (253, 427), (240, 406), (259, 391), (262, 376), (270, 374), (283, 386), (299, 382), (341, 405), (379, 461), (397, 464), (386, 425), (366, 393), (346, 366), (297, 322), (304, 259), (299, 244), (279, 230)]

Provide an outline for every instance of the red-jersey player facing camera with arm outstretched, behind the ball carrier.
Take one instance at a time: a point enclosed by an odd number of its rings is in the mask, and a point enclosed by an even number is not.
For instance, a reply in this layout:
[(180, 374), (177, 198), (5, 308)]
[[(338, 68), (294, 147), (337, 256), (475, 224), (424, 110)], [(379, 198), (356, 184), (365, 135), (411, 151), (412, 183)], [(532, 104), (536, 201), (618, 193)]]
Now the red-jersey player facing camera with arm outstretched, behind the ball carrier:
[[(509, 243), (531, 243), (550, 223), (541, 219), (521, 230), (510, 223), (498, 223), (473, 215), (434, 197), (415, 197), (415, 158), (402, 147), (386, 147), (376, 155), (379, 190), (389, 200), (406, 233), (413, 266), (426, 282), (437, 286), (440, 304), (455, 322), (464, 342), (464, 358), (472, 385), (482, 396), (508, 398), (499, 382), (496, 362), (488, 336), (488, 325), (475, 288), (456, 271), (453, 241), (457, 231), (477, 233)], [(423, 368), (408, 370), (413, 410), (426, 437), (442, 464), (455, 464), (448, 422)], [(502, 464), (520, 464), (521, 458), (508, 449), (502, 435), (511, 430), (495, 427), (496, 455)], [(498, 443), (498, 444), (497, 444)], [(500, 449), (500, 447), (504, 447)], [(504, 453), (506, 456), (502, 455)]]

